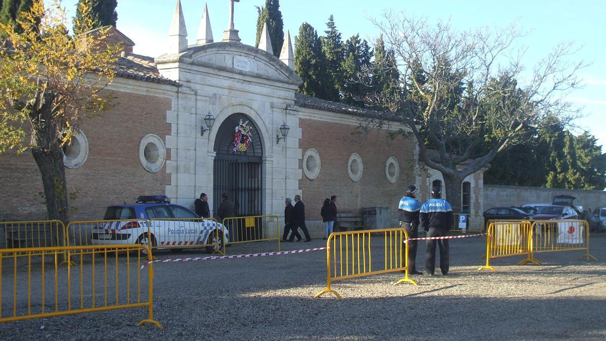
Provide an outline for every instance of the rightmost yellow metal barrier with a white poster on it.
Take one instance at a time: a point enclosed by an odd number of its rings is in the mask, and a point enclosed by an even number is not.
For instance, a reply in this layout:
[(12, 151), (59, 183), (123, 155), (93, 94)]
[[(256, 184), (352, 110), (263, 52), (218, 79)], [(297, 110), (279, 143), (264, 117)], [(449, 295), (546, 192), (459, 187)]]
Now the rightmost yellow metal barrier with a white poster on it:
[(538, 264), (533, 254), (553, 251), (585, 251), (581, 258), (598, 260), (589, 254), (589, 224), (586, 220), (536, 220), (531, 229), (532, 248), (529, 258)]

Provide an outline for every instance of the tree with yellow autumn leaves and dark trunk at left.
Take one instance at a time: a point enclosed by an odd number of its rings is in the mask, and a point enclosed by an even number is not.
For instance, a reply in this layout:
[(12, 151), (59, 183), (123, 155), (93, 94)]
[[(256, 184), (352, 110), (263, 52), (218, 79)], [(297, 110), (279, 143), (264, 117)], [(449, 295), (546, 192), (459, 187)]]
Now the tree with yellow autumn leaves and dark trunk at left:
[[(87, 2), (78, 10), (90, 11)], [(62, 147), (78, 133), (78, 121), (108, 109), (101, 91), (113, 80), (119, 46), (102, 44), (104, 31), (70, 36), (61, 1), (48, 8), (34, 0), (16, 24), (0, 24), (0, 153), (30, 149), (44, 185), (48, 218), (68, 221)], [(19, 27), (19, 29), (16, 29)]]

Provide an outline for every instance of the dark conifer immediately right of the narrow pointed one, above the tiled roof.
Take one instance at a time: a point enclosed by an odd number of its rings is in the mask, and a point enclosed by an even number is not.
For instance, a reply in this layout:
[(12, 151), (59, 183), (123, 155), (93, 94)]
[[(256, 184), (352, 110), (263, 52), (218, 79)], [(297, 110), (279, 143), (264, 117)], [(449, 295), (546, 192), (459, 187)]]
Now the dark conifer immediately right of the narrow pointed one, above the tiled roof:
[(343, 69), (344, 86), (342, 90), (342, 102), (364, 107), (364, 96), (370, 91), (365, 84), (359, 80), (360, 73), (370, 70), (373, 52), (366, 40), (361, 40), (359, 35), (351, 36), (344, 44), (344, 59), (341, 64)]

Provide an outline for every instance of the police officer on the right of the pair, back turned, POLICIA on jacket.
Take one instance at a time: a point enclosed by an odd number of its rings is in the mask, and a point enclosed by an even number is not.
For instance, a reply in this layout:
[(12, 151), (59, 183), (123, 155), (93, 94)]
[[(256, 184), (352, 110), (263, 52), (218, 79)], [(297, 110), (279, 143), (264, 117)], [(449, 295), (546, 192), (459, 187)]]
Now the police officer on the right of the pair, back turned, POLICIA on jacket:
[[(440, 187), (431, 189), (431, 199), (421, 206), (421, 226), (427, 229), (427, 237), (444, 237), (453, 225), (453, 209), (448, 201), (440, 198)], [(440, 269), (448, 274), (448, 239), (428, 240), (425, 251), (425, 269), (430, 275), (436, 267), (436, 242), (440, 248)]]

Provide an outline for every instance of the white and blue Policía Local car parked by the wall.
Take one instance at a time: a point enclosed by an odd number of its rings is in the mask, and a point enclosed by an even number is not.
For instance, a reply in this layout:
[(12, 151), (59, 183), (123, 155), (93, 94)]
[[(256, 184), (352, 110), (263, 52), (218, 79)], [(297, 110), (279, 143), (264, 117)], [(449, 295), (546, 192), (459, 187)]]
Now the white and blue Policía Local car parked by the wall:
[[(108, 206), (103, 220), (108, 221), (93, 227), (93, 245), (141, 244), (177, 251), (179, 246), (195, 245), (221, 249), (229, 240), (221, 223), (202, 220), (187, 208), (171, 204), (166, 195), (142, 195), (134, 204)], [(211, 253), (216, 246), (205, 249)]]

